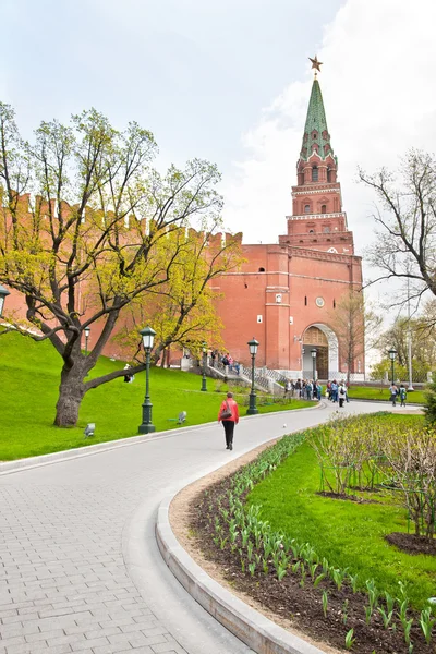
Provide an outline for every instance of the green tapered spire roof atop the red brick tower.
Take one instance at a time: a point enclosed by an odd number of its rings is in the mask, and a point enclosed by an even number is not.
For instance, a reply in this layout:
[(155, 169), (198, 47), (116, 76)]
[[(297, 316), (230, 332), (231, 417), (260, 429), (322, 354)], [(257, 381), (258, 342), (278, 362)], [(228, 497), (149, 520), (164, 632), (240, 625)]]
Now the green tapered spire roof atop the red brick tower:
[(319, 83), (316, 78), (312, 85), (300, 158), (307, 160), (314, 149), (317, 149), (317, 153), (322, 159), (325, 159), (328, 155), (331, 155), (331, 157), (336, 160), (334, 150), (331, 148), (330, 134), (328, 133), (323, 95), (320, 93)]

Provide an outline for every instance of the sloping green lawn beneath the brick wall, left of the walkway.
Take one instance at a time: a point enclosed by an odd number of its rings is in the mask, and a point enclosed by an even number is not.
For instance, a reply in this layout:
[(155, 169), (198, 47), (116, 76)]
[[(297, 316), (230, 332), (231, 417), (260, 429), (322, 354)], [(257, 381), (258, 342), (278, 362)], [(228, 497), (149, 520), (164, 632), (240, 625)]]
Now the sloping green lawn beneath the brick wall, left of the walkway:
[[(55, 427), (61, 363), (59, 354), (47, 341), (37, 343), (14, 332), (1, 337), (0, 460), (45, 455), (137, 434), (145, 373), (136, 375), (133, 384), (124, 384), (121, 377), (90, 390), (83, 400), (77, 427)], [(123, 362), (100, 358), (92, 376), (123, 366)], [(207, 379), (208, 392), (201, 392), (201, 382), (198, 375), (152, 368), (153, 422), (157, 432), (174, 428), (175, 421), (169, 419), (177, 419), (181, 411), (187, 412), (186, 426), (217, 420), (228, 387)], [(246, 398), (246, 389), (244, 393), (244, 397), (235, 396), (241, 404)], [(262, 397), (259, 404), (261, 401)], [(259, 405), (259, 413), (308, 405), (313, 403), (292, 400), (287, 405)], [(241, 414), (244, 413), (245, 408), (241, 405)], [(96, 434), (85, 439), (83, 429), (89, 422), (96, 423)]]

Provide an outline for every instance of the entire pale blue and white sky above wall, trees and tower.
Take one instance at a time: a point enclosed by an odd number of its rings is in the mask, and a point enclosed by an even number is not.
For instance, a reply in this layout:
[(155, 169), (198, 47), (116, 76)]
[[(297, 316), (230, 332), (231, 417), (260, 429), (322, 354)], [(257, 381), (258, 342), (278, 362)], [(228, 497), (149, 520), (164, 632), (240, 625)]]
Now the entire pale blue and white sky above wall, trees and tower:
[(218, 165), (245, 243), (287, 231), (315, 53), (358, 254), (373, 231), (358, 165), (435, 149), (435, 0), (2, 0), (1, 17), (0, 99), (26, 136), (92, 106), (136, 120), (161, 167)]

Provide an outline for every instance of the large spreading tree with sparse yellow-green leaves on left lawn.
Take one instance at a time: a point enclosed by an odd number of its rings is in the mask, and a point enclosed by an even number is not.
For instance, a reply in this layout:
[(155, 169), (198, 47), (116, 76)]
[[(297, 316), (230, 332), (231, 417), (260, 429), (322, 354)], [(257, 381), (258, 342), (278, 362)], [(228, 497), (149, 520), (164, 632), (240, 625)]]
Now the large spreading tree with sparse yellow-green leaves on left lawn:
[[(43, 122), (26, 143), (13, 109), (0, 104), (0, 283), (22, 293), (38, 329), (16, 324), (21, 332), (49, 340), (62, 359), (56, 425), (75, 425), (84, 395), (123, 375), (86, 380), (132, 303), (171, 300), (196, 239), (189, 228), (208, 241), (220, 226), (217, 168), (194, 159), (161, 175), (152, 168), (156, 150), (150, 132), (135, 122), (117, 131), (95, 109), (68, 125)], [(238, 265), (235, 240), (214, 252), (214, 270)], [(192, 267), (195, 287), (207, 270)], [(100, 336), (86, 356), (82, 336), (96, 323)], [(144, 368), (138, 362), (132, 373)]]

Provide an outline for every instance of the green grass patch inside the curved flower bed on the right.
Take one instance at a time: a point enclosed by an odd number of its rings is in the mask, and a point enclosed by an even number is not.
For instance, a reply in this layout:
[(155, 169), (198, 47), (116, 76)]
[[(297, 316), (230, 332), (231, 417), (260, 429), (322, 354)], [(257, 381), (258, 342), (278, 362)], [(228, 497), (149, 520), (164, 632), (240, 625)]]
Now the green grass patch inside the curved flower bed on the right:
[[(395, 416), (397, 420), (423, 420)], [(384, 420), (380, 416), (377, 420)], [(392, 417), (388, 417), (392, 420)], [(384, 535), (407, 532), (404, 509), (379, 494), (367, 494), (377, 504), (358, 504), (317, 495), (319, 468), (313, 449), (304, 443), (250, 494), (249, 504), (262, 505), (262, 519), (302, 543), (311, 543), (330, 565), (350, 568), (361, 582), (374, 579), (377, 588), (398, 595), (398, 581), (408, 585), (416, 608), (435, 595), (436, 557), (408, 555), (390, 546)]]

